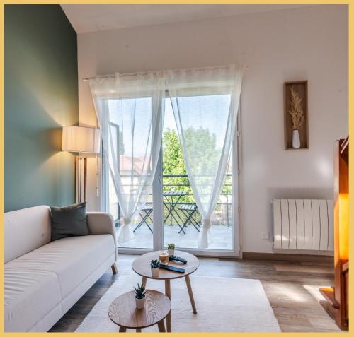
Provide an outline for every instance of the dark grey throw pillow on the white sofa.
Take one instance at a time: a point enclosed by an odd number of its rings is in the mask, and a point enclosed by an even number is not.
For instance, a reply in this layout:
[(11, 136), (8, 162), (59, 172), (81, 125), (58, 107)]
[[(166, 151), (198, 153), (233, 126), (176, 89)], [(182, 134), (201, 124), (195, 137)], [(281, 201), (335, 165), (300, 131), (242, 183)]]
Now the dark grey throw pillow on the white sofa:
[(89, 235), (86, 220), (86, 202), (67, 207), (50, 207), (52, 241), (63, 237)]

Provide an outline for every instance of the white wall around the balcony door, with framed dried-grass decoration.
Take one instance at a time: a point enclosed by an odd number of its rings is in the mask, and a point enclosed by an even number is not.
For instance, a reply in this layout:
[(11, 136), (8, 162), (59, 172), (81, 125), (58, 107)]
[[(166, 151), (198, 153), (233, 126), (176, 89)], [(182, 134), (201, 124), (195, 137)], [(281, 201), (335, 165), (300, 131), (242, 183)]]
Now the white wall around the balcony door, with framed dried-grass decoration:
[[(333, 198), (333, 141), (348, 134), (347, 6), (312, 6), (78, 35), (79, 78), (247, 64), (241, 94), (244, 252), (272, 252), (273, 198)], [(284, 150), (283, 83), (308, 80), (309, 150)], [(79, 81), (79, 122), (96, 125)], [(98, 209), (91, 160), (89, 208)]]

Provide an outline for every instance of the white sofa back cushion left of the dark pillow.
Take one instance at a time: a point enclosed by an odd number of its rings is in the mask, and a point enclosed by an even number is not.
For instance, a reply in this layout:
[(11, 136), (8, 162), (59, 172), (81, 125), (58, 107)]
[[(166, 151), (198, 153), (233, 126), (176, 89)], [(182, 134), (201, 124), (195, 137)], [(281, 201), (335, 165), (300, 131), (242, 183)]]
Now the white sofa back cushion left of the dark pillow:
[(50, 242), (50, 208), (35, 206), (4, 214), (5, 263)]

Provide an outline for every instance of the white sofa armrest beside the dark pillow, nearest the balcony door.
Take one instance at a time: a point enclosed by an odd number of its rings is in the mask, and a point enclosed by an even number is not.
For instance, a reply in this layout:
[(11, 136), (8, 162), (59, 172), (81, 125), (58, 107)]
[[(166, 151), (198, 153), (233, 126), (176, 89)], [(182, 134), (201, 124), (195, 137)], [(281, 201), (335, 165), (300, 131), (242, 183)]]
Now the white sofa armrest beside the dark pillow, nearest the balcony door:
[(87, 225), (90, 234), (111, 234), (115, 244), (115, 260), (118, 259), (117, 239), (115, 236), (115, 225), (113, 216), (110, 213), (87, 212)]

